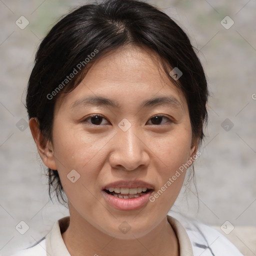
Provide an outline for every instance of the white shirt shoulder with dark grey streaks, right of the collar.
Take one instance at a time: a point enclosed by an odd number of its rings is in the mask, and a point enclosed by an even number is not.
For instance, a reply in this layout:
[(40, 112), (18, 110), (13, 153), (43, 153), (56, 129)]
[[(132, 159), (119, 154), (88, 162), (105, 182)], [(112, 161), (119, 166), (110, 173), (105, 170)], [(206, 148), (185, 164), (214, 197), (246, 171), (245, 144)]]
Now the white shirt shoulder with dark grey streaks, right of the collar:
[(175, 215), (182, 224), (192, 245), (193, 254), (199, 256), (242, 256), (241, 252), (220, 232), (195, 219)]

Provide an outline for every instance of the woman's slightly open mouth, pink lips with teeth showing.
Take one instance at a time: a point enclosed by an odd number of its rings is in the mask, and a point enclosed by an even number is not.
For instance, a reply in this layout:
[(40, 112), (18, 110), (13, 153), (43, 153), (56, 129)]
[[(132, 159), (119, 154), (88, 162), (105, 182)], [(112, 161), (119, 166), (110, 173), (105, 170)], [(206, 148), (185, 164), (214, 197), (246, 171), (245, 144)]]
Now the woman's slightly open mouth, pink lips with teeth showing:
[(145, 205), (153, 185), (143, 181), (118, 181), (106, 185), (102, 189), (106, 202), (119, 210), (134, 210)]

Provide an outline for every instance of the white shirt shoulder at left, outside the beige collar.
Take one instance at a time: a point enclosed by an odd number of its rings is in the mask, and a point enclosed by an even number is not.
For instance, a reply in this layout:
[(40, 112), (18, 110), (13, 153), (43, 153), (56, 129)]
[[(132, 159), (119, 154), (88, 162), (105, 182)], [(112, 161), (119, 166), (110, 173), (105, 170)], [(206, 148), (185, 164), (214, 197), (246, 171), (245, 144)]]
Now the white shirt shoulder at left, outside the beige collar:
[(31, 244), (29, 247), (16, 251), (10, 256), (46, 256), (45, 237), (41, 238), (37, 243)]

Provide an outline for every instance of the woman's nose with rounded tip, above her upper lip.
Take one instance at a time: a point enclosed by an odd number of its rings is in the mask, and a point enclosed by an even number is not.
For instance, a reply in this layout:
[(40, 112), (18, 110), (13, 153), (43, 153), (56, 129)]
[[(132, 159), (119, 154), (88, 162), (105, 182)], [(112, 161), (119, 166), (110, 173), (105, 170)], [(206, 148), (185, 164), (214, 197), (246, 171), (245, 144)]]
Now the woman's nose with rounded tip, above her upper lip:
[(141, 133), (132, 126), (126, 131), (118, 129), (114, 136), (113, 151), (109, 156), (109, 163), (113, 168), (135, 170), (149, 164), (150, 150)]

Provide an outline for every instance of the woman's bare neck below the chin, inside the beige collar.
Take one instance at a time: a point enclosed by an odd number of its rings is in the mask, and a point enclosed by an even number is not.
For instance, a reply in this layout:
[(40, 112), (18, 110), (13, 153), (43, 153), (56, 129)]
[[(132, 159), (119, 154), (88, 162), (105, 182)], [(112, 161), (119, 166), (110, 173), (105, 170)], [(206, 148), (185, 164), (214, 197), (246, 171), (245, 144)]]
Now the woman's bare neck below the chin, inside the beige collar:
[(80, 215), (71, 217), (70, 214), (70, 223), (62, 238), (71, 256), (179, 255), (178, 241), (167, 217), (146, 235), (126, 240), (109, 236)]

